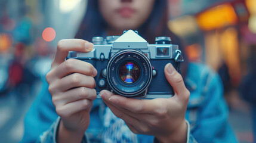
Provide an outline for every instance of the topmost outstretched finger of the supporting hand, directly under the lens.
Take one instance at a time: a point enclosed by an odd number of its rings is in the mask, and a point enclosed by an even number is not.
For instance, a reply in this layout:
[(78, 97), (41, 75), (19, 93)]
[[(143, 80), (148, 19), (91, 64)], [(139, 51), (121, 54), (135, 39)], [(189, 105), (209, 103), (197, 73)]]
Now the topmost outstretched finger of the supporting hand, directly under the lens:
[(120, 95), (113, 95), (109, 91), (101, 91), (101, 98), (108, 100), (111, 104), (118, 105), (119, 107), (125, 108), (134, 113), (154, 113), (158, 110), (159, 105), (157, 105), (155, 100), (137, 100), (134, 98), (122, 97)]

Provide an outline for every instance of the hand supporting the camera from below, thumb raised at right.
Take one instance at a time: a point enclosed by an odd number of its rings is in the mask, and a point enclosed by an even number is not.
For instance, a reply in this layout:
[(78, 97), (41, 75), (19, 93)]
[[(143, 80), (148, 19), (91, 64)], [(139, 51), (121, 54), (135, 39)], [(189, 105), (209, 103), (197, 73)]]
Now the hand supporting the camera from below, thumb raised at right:
[(190, 92), (172, 64), (165, 66), (165, 76), (175, 92), (171, 98), (136, 100), (109, 91), (101, 91), (100, 96), (132, 132), (153, 135), (160, 142), (186, 142), (185, 113)]

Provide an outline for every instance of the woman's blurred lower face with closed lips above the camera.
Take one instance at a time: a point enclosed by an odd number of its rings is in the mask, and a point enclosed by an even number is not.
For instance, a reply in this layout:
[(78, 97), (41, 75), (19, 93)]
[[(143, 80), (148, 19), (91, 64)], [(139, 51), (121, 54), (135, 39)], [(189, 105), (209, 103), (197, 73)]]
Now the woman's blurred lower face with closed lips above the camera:
[(100, 13), (111, 29), (136, 29), (149, 18), (155, 0), (98, 0)]

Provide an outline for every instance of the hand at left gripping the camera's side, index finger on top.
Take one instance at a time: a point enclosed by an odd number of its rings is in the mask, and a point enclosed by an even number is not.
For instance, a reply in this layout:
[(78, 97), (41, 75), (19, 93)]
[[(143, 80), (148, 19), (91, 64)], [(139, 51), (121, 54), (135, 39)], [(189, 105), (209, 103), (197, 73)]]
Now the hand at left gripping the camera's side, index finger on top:
[(51, 70), (46, 79), (58, 116), (58, 142), (81, 142), (90, 123), (92, 101), (96, 98), (97, 70), (81, 60), (65, 61), (69, 51), (90, 52), (93, 44), (82, 39), (58, 42)]

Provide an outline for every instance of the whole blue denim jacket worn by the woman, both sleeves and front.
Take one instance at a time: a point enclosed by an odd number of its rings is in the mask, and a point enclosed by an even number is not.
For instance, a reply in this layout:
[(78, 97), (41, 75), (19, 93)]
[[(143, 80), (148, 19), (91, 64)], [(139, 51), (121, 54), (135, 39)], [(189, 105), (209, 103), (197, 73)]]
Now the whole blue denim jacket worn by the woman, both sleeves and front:
[[(184, 82), (190, 91), (186, 111), (187, 142), (237, 142), (227, 120), (229, 111), (218, 74), (205, 64), (190, 63)], [(109, 108), (101, 100), (94, 101), (90, 126), (82, 142), (111, 142), (107, 139), (109, 136), (104, 136), (106, 122), (114, 123), (118, 119), (113, 114), (107, 114), (106, 117), (107, 111)], [(36, 97), (24, 119), (24, 136), (21, 142), (55, 142), (59, 120), (51, 102), (48, 84), (44, 81), (40, 95)], [(115, 132), (120, 133), (121, 130), (117, 128)], [(131, 133), (129, 138), (133, 138), (131, 142), (158, 142), (148, 135)]]

